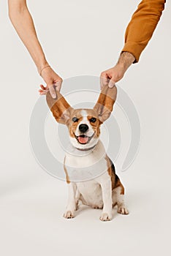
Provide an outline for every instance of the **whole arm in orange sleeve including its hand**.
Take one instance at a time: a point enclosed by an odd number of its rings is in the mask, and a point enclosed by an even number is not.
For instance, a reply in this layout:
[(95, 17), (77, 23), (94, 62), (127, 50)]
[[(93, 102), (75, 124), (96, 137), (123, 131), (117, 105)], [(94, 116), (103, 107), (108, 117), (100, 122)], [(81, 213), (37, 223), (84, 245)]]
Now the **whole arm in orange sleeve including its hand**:
[(142, 0), (126, 28), (125, 45), (115, 67), (101, 74), (101, 86), (113, 87), (132, 63), (139, 61), (164, 10), (165, 0)]

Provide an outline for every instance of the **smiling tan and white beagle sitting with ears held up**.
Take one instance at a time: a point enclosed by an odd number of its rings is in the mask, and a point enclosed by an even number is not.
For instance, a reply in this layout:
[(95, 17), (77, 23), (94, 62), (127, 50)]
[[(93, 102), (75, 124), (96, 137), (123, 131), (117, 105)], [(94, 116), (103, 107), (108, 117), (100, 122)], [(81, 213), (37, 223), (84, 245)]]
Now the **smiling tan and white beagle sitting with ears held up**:
[[(71, 151), (66, 151), (64, 157), (64, 172), (69, 190), (64, 217), (75, 217), (79, 201), (92, 208), (102, 208), (99, 218), (102, 221), (112, 219), (115, 205), (118, 206), (118, 213), (129, 214), (124, 203), (123, 184), (99, 140), (100, 126), (113, 110), (116, 87), (111, 89), (104, 86), (93, 109), (74, 109), (58, 91), (56, 94), (56, 99), (53, 99), (47, 92), (47, 105), (56, 121), (68, 127), (72, 148)], [(82, 179), (85, 173), (89, 176)], [(80, 180), (76, 181), (75, 176), (80, 176)]]

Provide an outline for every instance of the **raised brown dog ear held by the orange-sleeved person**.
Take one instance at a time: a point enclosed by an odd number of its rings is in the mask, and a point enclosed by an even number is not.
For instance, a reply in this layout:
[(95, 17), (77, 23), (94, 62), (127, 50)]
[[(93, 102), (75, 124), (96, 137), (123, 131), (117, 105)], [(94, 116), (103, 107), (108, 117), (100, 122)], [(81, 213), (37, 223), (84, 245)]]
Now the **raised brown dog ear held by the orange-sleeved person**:
[(116, 95), (117, 89), (115, 86), (113, 88), (109, 88), (108, 86), (103, 87), (99, 99), (94, 106), (94, 110), (98, 113), (99, 120), (102, 121), (102, 123), (110, 117), (110, 114), (113, 111)]

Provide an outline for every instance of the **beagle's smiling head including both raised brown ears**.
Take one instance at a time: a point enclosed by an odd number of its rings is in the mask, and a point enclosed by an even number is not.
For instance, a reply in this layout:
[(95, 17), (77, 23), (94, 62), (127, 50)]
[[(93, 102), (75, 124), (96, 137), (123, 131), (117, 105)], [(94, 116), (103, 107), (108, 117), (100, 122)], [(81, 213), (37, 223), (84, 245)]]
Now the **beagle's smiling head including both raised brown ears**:
[(58, 91), (56, 94), (56, 99), (53, 99), (47, 92), (47, 105), (56, 121), (68, 127), (72, 146), (80, 149), (94, 147), (99, 140), (100, 125), (110, 117), (113, 110), (116, 87), (111, 89), (104, 86), (93, 109), (74, 109)]

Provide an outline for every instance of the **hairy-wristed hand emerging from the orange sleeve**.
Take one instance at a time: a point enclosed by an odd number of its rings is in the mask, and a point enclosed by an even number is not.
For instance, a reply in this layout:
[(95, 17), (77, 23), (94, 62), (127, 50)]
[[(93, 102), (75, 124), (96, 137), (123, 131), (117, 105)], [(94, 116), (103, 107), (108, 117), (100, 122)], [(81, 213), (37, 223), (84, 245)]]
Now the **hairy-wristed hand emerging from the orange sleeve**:
[(123, 75), (125, 74), (126, 70), (131, 66), (131, 64), (134, 62), (134, 56), (132, 53), (129, 52), (123, 52), (121, 53), (120, 58), (118, 59), (118, 63), (115, 64), (115, 67), (112, 67), (111, 69), (107, 69), (106, 71), (102, 72), (100, 75), (100, 85), (101, 89), (103, 86), (109, 86), (110, 88), (113, 88), (115, 86), (115, 83), (117, 83), (121, 78), (123, 78)]

